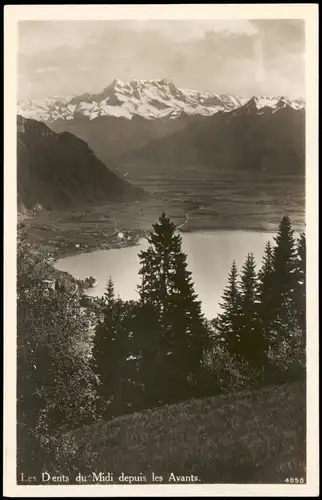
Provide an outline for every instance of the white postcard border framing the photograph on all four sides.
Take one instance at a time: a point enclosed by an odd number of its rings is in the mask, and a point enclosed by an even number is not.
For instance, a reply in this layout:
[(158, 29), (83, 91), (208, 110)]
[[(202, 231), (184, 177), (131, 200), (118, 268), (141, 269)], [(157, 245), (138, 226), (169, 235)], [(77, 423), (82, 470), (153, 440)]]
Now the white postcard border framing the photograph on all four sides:
[[(16, 96), (21, 20), (304, 19), (306, 23), (307, 484), (16, 484)], [(318, 4), (7, 5), (4, 10), (4, 495), (8, 497), (318, 496)], [(107, 464), (108, 468), (108, 464)]]

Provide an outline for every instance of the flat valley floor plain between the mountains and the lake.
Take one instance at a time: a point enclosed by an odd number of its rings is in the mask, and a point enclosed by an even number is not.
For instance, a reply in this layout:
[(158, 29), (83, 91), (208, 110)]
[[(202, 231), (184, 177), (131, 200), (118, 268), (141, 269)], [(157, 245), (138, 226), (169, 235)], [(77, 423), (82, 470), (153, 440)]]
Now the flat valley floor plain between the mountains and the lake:
[(59, 258), (136, 244), (162, 211), (182, 225), (182, 231), (275, 231), (286, 213), (295, 230), (305, 227), (304, 185), (289, 176), (267, 180), (269, 187), (263, 179), (250, 184), (228, 177), (208, 182), (190, 176), (189, 182), (169, 178), (161, 183), (151, 176), (146, 182), (151, 193), (147, 200), (41, 211), (23, 220), (20, 216), (21, 232), (36, 248)]

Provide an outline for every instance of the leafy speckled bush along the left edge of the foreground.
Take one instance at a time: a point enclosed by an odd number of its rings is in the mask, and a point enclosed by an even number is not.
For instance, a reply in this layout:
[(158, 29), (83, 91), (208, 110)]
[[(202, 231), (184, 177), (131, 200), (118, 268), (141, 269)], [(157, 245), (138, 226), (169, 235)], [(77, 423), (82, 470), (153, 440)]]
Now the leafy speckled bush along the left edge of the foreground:
[(62, 432), (92, 422), (97, 379), (79, 301), (48, 288), (48, 266), (21, 245), (17, 279), (17, 464), (49, 467)]

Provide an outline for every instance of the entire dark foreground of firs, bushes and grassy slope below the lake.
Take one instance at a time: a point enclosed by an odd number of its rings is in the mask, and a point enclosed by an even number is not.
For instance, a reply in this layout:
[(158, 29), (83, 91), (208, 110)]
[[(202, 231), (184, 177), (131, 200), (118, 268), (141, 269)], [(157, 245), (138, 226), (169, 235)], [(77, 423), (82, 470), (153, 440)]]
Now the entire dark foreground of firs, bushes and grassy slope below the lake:
[(252, 254), (240, 274), (233, 263), (213, 321), (165, 214), (148, 241), (139, 300), (117, 297), (110, 279), (95, 304), (51, 286), (46, 256), (19, 241), (18, 481), (304, 478), (305, 235), (285, 216), (259, 272)]

